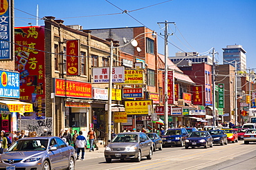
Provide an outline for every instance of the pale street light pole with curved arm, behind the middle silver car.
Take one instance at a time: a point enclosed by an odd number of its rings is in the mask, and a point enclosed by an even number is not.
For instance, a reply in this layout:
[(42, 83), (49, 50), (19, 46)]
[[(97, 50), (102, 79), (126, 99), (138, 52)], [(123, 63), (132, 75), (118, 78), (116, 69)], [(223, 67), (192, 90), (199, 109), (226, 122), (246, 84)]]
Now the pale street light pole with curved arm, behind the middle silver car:
[(156, 32), (143, 32), (141, 34), (138, 34), (137, 36), (134, 37), (134, 39), (131, 39), (131, 41), (129, 41), (128, 43), (126, 43), (125, 45), (122, 46), (117, 46), (114, 47), (113, 45), (113, 39), (107, 39), (107, 41), (111, 42), (110, 45), (110, 61), (109, 61), (109, 91), (108, 91), (108, 141), (111, 140), (111, 122), (112, 122), (112, 108), (111, 108), (111, 104), (112, 104), (112, 70), (113, 70), (113, 49), (114, 48), (118, 48), (118, 47), (125, 47), (126, 45), (128, 45), (129, 43), (131, 43), (131, 45), (133, 45), (134, 47), (136, 47), (138, 45), (138, 42), (136, 41), (136, 38), (140, 35), (143, 34), (152, 34), (153, 38), (156, 38)]

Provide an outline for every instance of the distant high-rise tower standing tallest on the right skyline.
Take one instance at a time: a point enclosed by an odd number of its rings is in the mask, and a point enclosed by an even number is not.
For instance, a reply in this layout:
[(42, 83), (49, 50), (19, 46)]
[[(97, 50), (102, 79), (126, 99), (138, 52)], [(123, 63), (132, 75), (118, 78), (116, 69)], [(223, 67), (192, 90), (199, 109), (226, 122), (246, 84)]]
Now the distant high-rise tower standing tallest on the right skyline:
[(230, 64), (235, 67), (237, 61), (237, 70), (246, 70), (246, 51), (242, 45), (227, 45), (223, 50), (223, 64)]

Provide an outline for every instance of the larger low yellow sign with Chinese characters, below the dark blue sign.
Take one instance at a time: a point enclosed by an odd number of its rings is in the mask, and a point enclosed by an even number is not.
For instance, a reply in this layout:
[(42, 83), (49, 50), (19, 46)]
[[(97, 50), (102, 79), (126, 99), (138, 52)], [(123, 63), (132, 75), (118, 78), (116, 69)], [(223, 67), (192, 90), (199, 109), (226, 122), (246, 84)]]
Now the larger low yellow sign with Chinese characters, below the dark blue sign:
[(152, 111), (152, 100), (125, 101), (125, 112), (129, 114), (149, 114)]

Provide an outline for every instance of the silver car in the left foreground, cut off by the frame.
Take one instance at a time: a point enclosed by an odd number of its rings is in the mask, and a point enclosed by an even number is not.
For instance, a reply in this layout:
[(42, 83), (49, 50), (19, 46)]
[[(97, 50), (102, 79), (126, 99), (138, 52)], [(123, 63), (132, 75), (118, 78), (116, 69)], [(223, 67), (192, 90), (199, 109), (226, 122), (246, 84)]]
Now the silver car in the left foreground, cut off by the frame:
[(17, 140), (0, 155), (0, 169), (75, 169), (75, 149), (59, 137)]

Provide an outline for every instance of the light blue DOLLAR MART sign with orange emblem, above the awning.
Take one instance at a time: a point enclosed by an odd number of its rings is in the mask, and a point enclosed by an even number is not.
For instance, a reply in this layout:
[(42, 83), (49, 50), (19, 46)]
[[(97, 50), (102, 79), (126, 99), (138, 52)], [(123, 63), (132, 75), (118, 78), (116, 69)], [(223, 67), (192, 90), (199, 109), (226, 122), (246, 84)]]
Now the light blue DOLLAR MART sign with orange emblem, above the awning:
[(0, 70), (0, 97), (19, 98), (19, 73)]

